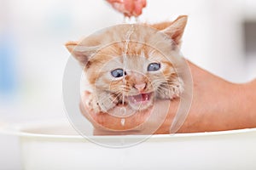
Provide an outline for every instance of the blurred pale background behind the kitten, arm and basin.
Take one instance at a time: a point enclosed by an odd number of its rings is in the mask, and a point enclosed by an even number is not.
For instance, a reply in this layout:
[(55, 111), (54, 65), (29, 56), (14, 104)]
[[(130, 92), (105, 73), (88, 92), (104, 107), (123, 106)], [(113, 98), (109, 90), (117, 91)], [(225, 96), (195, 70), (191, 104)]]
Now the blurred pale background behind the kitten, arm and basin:
[[(230, 82), (256, 77), (255, 0), (148, 0), (140, 21), (188, 14), (182, 53)], [(123, 16), (104, 0), (0, 0), (0, 126), (66, 118), (64, 47)], [(18, 141), (0, 134), (0, 169), (20, 169)]]

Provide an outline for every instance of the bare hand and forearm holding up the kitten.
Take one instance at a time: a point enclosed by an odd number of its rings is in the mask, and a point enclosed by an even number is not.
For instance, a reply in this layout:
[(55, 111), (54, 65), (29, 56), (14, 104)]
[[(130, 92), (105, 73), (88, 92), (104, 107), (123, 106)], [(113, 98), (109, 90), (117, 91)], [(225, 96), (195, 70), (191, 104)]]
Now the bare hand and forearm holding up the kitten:
[[(252, 82), (236, 84), (212, 75), (212, 73), (188, 61), (193, 78), (193, 100), (189, 115), (177, 133), (198, 133), (224, 131), (256, 127), (256, 79)], [(95, 127), (96, 135), (108, 134), (143, 134), (148, 127), (155, 125), (148, 121), (150, 111), (137, 112), (121, 119), (106, 113), (94, 114), (85, 105), (89, 93), (84, 92), (80, 109), (82, 114)], [(166, 102), (160, 100), (154, 105), (158, 111)], [(177, 111), (179, 99), (171, 102), (165, 121), (154, 133), (170, 133), (170, 126)], [(126, 130), (121, 132), (120, 130)], [(117, 133), (119, 132), (119, 133)]]

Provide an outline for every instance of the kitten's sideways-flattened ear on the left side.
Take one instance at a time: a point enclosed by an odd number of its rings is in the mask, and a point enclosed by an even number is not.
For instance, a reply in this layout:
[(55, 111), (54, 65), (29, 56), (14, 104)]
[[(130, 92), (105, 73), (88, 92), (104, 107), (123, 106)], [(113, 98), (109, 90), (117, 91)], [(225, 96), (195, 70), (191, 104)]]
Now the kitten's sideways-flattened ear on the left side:
[(67, 42), (65, 44), (67, 50), (73, 55), (75, 59), (79, 60), (81, 65), (85, 65), (91, 55), (96, 53), (97, 46), (88, 47), (79, 45), (79, 42)]

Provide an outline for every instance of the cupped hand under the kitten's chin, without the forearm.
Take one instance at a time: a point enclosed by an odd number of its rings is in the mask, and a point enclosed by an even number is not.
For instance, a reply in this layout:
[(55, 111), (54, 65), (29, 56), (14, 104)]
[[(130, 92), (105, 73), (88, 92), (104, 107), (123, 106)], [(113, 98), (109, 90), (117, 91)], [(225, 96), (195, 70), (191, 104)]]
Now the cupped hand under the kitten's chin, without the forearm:
[[(120, 108), (116, 106), (108, 113), (100, 112), (95, 113), (90, 110), (87, 102), (90, 98), (89, 92), (84, 92), (80, 103), (80, 110), (82, 114), (92, 123), (94, 128), (94, 134), (152, 134), (160, 128), (161, 124), (165, 124), (165, 127), (161, 127), (156, 133), (169, 133), (171, 126), (170, 120), (175, 116), (179, 99), (172, 100), (170, 105), (169, 100), (156, 101), (154, 103), (154, 109), (147, 111), (137, 111), (129, 114), (129, 116), (119, 116)], [(170, 111), (160, 112), (163, 108), (169, 105)], [(171, 110), (172, 108), (172, 110)], [(127, 111), (130, 112), (130, 111)], [(121, 123), (121, 119), (125, 118), (125, 123)], [(165, 122), (165, 123), (163, 123)], [(169, 128), (168, 128), (169, 127)]]

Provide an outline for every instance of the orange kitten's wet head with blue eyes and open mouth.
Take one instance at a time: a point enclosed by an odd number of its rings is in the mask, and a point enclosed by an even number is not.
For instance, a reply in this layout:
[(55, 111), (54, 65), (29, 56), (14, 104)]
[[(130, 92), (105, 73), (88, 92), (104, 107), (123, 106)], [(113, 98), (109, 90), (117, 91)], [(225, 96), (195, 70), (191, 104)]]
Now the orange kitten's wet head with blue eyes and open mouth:
[(113, 26), (66, 47), (84, 65), (96, 94), (108, 92), (117, 104), (143, 110), (155, 97), (172, 99), (183, 91), (177, 67), (186, 23), (187, 16), (179, 16), (149, 26)]

